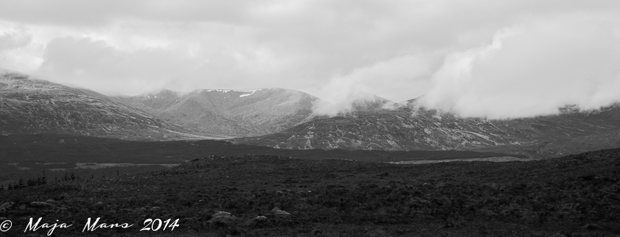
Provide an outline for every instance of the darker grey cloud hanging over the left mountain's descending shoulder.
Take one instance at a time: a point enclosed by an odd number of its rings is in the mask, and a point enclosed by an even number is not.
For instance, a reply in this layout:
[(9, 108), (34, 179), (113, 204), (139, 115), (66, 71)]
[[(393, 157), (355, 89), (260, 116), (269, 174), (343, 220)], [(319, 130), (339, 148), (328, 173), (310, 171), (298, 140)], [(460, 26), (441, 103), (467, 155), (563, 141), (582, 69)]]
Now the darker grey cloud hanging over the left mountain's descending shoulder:
[(176, 76), (184, 76), (186, 63), (174, 51), (147, 48), (125, 52), (105, 41), (64, 37), (45, 46), (43, 62), (35, 74), (53, 81), (96, 87), (107, 94), (130, 94), (134, 92), (132, 88), (154, 90)]

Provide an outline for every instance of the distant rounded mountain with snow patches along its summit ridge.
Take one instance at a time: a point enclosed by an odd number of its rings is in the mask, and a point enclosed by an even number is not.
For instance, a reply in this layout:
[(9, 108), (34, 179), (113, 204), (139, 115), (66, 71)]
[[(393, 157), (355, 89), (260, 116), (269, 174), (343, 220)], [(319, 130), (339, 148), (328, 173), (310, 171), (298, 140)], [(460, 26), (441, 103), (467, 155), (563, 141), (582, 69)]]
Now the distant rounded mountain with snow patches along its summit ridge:
[(297, 90), (161, 90), (116, 99), (163, 121), (221, 136), (281, 132), (309, 120), (315, 96)]

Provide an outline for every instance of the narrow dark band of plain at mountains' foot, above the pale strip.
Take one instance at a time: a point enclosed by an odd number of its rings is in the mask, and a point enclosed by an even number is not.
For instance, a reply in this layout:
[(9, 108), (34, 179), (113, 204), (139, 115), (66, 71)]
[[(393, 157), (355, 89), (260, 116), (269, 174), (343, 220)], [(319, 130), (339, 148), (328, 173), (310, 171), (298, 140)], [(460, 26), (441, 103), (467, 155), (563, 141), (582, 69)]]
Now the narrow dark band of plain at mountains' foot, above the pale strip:
[(28, 134), (0, 136), (0, 162), (110, 162), (183, 163), (205, 156), (268, 154), (310, 160), (329, 158), (368, 162), (446, 160), (515, 156), (497, 152), (471, 151), (382, 151), (382, 150), (288, 150), (258, 145), (233, 144), (221, 140), (125, 141), (114, 138)]

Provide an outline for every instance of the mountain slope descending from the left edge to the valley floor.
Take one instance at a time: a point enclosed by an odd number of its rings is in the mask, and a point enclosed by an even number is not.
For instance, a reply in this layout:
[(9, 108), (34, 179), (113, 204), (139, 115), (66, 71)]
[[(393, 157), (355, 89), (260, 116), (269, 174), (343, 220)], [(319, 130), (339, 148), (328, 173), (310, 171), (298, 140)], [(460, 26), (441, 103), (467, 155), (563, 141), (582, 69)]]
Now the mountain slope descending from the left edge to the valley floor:
[(0, 74), (0, 134), (74, 134), (137, 140), (207, 138), (91, 90)]

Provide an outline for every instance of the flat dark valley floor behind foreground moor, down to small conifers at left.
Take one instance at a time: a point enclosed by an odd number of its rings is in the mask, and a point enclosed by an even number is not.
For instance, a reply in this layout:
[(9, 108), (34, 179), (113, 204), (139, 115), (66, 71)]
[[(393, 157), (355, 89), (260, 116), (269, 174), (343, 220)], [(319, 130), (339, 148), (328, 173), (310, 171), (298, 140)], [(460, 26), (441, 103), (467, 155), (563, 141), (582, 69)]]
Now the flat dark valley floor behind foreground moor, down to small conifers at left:
[[(0, 136), (0, 185), (7, 186), (40, 178), (51, 180), (73, 174), (76, 178), (102, 178), (163, 169), (206, 156), (269, 154), (304, 159), (342, 158), (358, 161), (421, 161), (455, 158), (486, 158), (521, 155), (468, 151), (367, 151), (284, 150), (256, 145), (234, 145), (227, 141), (124, 141), (113, 138), (59, 134)], [(77, 163), (133, 163), (141, 165), (78, 168)], [(148, 164), (148, 165), (147, 165)], [(90, 165), (90, 164), (89, 164)], [(1, 186), (0, 186), (1, 187)]]

